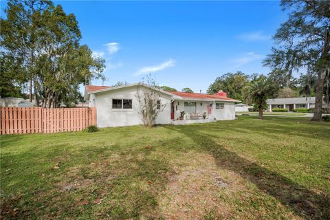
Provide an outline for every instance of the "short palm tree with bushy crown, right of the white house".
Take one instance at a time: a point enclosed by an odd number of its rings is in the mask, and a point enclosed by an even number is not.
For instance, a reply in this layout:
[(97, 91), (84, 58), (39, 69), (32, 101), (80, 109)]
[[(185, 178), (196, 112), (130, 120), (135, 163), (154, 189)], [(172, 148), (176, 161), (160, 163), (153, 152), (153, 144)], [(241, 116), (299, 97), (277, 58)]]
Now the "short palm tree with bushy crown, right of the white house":
[(259, 109), (259, 119), (263, 119), (263, 108), (267, 99), (274, 98), (278, 93), (278, 84), (274, 83), (271, 78), (261, 75), (253, 80), (246, 89), (248, 91), (248, 98)]

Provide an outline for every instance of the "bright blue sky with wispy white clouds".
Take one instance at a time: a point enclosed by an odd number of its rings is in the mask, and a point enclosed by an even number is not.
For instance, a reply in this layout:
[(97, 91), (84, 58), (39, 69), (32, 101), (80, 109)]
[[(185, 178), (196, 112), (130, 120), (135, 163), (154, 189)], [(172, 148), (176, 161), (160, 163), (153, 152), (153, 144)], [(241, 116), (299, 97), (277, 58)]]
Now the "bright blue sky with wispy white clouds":
[(106, 58), (104, 85), (135, 83), (151, 72), (159, 85), (179, 91), (206, 92), (227, 72), (267, 74), (261, 62), (287, 18), (279, 1), (55, 3), (76, 15), (81, 43)]

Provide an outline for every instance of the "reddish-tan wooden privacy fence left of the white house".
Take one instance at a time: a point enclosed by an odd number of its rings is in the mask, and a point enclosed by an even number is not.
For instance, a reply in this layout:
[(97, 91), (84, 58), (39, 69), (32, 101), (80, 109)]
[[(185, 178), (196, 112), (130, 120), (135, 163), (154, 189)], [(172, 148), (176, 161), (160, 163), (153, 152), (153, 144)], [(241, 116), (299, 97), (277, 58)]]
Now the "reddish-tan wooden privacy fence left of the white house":
[(96, 125), (95, 108), (42, 109), (0, 107), (1, 135), (81, 131)]

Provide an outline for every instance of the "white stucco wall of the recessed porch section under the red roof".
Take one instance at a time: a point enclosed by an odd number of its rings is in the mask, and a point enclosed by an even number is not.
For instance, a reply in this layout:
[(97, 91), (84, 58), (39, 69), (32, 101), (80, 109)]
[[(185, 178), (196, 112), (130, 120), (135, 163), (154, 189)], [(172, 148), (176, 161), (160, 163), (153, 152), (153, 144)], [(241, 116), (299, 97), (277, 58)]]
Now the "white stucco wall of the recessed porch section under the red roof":
[[(180, 112), (184, 111), (184, 102), (189, 102), (188, 100), (175, 100), (174, 107), (175, 107), (175, 120), (179, 118)], [(234, 120), (235, 119), (235, 104), (234, 102), (219, 102), (224, 103), (224, 109), (215, 109), (216, 102), (206, 102), (206, 101), (194, 101), (191, 100), (190, 102), (197, 102), (196, 103), (196, 112), (201, 113), (201, 115), (206, 112), (207, 118), (216, 119), (216, 120)], [(208, 104), (213, 103), (212, 113), (208, 114)], [(176, 110), (177, 106), (177, 110)]]

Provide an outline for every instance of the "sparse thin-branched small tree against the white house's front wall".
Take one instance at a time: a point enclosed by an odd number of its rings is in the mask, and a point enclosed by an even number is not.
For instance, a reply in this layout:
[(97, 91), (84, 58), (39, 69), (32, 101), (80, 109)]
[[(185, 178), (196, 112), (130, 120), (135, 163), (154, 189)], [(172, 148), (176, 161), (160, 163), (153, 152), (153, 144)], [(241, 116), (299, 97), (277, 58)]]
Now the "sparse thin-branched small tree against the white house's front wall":
[(151, 75), (144, 78), (136, 97), (142, 122), (146, 128), (151, 128), (154, 126), (158, 114), (166, 107), (166, 104), (162, 103), (160, 89)]

